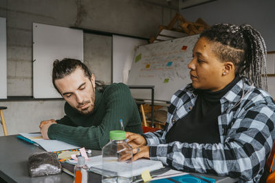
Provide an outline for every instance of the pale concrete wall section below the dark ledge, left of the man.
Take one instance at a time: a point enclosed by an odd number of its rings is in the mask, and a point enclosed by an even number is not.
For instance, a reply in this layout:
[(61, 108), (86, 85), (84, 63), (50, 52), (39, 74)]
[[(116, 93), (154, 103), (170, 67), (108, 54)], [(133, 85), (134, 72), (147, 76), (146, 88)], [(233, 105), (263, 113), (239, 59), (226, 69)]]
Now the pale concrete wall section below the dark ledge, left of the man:
[[(7, 101), (0, 102), (6, 106), (3, 110), (8, 134), (19, 132), (39, 132), (39, 123), (45, 119), (60, 119), (64, 116), (65, 101)], [(0, 136), (3, 136), (0, 126)]]

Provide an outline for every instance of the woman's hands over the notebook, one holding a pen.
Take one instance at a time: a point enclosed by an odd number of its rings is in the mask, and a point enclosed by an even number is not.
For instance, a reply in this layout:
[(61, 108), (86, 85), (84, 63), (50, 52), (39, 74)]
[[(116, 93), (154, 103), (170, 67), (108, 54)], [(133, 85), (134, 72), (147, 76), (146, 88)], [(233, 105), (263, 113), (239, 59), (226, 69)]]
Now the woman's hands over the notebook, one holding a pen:
[(150, 147), (146, 146), (146, 139), (140, 134), (126, 132), (127, 143), (133, 148), (133, 161), (139, 158), (150, 158)]

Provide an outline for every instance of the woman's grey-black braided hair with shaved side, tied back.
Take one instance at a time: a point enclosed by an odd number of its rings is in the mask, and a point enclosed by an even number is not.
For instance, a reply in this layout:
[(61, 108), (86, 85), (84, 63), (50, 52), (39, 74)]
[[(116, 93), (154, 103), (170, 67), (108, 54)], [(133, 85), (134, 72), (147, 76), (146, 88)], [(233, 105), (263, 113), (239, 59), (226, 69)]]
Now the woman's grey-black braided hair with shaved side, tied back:
[(254, 86), (267, 90), (265, 41), (252, 26), (216, 24), (203, 31), (201, 37), (214, 42), (212, 51), (221, 62), (233, 62), (235, 75), (248, 77)]

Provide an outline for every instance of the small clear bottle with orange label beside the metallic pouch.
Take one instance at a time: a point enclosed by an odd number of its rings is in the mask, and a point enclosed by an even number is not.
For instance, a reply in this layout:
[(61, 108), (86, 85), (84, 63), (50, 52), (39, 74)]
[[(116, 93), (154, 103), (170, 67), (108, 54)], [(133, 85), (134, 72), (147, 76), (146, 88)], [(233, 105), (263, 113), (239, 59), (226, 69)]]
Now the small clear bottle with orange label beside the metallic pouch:
[(74, 166), (74, 183), (87, 183), (89, 178), (88, 167), (85, 158), (78, 157), (78, 164)]

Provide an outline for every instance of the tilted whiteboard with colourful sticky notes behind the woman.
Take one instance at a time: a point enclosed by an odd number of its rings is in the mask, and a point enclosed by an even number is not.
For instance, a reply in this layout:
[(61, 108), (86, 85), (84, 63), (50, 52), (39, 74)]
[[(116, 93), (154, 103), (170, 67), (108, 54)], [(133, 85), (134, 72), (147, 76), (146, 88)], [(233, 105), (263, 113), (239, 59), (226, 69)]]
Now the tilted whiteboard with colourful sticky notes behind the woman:
[[(199, 34), (144, 45), (131, 66), (131, 85), (155, 85), (155, 100), (170, 101), (179, 88), (191, 82), (188, 63)], [(151, 90), (131, 90), (135, 99), (151, 99)]]

